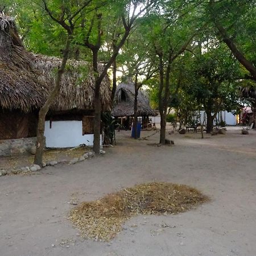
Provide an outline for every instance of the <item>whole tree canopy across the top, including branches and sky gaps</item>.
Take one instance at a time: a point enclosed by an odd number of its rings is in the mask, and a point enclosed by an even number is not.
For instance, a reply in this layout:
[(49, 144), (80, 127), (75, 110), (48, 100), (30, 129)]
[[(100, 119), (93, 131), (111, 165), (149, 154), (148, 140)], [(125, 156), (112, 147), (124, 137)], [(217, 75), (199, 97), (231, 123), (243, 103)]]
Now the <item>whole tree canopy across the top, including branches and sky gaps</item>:
[[(16, 18), (35, 53), (63, 56), (72, 34), (68, 57), (92, 63), (95, 102), (110, 69), (112, 100), (120, 69), (138, 89), (147, 85), (161, 115), (160, 143), (168, 108), (214, 117), (237, 108), (241, 86), (255, 86), (256, 0), (2, 0), (0, 11)], [(98, 120), (100, 105), (95, 113)]]

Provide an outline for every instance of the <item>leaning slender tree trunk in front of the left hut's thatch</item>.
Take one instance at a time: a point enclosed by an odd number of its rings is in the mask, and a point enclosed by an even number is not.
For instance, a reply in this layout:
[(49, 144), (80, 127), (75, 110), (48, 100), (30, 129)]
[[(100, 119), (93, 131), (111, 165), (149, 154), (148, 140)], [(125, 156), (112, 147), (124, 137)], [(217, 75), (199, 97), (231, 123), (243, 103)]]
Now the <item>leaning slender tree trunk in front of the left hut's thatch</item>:
[(46, 115), (48, 113), (49, 107), (51, 106), (52, 102), (56, 99), (60, 91), (60, 86), (61, 86), (60, 81), (67, 64), (70, 42), (71, 42), (71, 35), (68, 35), (66, 44), (65, 44), (65, 49), (63, 51), (63, 59), (61, 61), (60, 68), (58, 69), (57, 75), (55, 78), (54, 88), (51, 91), (51, 93), (49, 93), (49, 96), (45, 104), (42, 106), (42, 108), (39, 111), (38, 129), (36, 133), (36, 154), (34, 158), (34, 163), (38, 164), (39, 166), (42, 166), (43, 151), (46, 144), (45, 137), (44, 137), (44, 125), (46, 121)]

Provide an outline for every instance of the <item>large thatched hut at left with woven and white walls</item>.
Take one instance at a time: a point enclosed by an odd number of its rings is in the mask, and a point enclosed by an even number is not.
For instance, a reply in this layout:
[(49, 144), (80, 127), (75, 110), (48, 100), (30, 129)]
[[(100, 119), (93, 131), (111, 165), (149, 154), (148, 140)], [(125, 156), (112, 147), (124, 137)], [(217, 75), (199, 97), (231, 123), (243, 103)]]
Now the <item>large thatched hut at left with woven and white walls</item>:
[[(53, 88), (60, 63), (56, 57), (27, 52), (14, 20), (0, 15), (0, 139), (36, 135), (38, 112)], [(110, 110), (110, 94), (106, 76), (101, 84), (104, 111)], [(85, 61), (68, 60), (60, 94), (47, 115), (47, 147), (93, 143), (93, 98), (92, 68)]]

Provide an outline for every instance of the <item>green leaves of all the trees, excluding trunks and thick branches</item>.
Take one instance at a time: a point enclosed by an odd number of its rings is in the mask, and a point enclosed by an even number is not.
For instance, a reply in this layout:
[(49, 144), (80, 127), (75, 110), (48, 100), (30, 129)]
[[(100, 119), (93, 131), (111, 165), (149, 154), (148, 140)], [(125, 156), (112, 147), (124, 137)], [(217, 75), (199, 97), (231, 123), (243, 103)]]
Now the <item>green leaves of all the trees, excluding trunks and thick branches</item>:
[[(91, 60), (91, 52), (82, 47), (90, 29), (89, 41), (97, 41), (96, 16), (101, 19), (101, 48), (98, 61), (106, 63), (113, 53), (113, 44), (119, 42), (125, 29), (122, 16), (127, 19), (129, 0), (107, 1), (93, 0), (77, 19), (71, 46), (71, 54), (79, 52), (80, 59)], [(144, 6), (147, 1), (133, 1)], [(16, 16), (16, 22), (24, 45), (28, 50), (44, 55), (61, 56), (65, 42), (65, 31), (53, 22), (43, 8), (42, 0), (2, 0), (0, 10), (5, 6), (5, 13)], [(55, 16), (74, 13), (81, 7), (82, 0), (47, 1)], [(214, 1), (209, 8), (209, 1), (201, 0), (156, 0), (154, 7), (140, 15), (129, 38), (117, 57), (118, 69), (123, 74), (134, 78), (139, 73), (139, 81), (148, 86), (150, 102), (154, 109), (159, 106), (159, 58), (156, 50), (163, 55), (164, 73), (168, 57), (176, 56), (171, 63), (171, 75), (167, 105), (174, 108), (183, 122), (193, 119), (193, 113), (204, 109), (208, 112), (236, 110), (240, 107), (239, 87), (255, 86), (255, 82), (240, 80), (248, 72), (234, 59), (232, 53), (222, 43), (211, 13), (218, 20), (251, 63), (256, 64), (256, 5), (255, 0)], [(180, 53), (189, 38), (191, 42)], [(88, 67), (81, 68), (79, 83), (86, 79)], [(72, 66), (67, 65), (67, 72)], [(150, 71), (150, 79), (146, 80)], [(166, 76), (164, 82), (166, 83)], [(165, 90), (162, 92), (164, 97)], [(251, 102), (254, 99), (250, 99)]]

